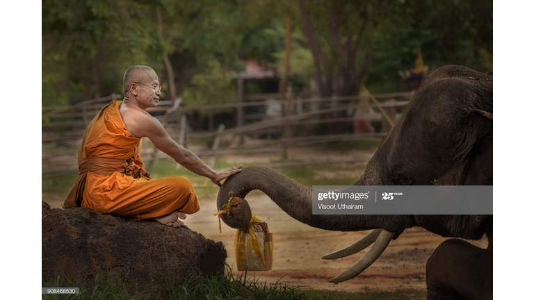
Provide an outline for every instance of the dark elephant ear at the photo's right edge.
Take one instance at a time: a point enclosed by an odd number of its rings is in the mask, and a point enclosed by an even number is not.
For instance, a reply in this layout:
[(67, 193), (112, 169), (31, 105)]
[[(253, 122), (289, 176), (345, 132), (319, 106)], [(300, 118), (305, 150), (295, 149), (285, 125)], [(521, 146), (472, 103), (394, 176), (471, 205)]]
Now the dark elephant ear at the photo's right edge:
[(473, 131), (465, 160), (462, 185), (493, 185), (493, 114), (471, 110), (466, 116)]

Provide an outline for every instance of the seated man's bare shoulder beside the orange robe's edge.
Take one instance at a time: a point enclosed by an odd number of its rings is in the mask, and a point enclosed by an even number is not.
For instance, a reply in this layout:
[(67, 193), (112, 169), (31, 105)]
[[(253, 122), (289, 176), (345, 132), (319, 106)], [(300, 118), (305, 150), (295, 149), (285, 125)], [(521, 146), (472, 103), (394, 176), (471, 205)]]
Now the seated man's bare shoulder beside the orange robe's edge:
[(144, 138), (149, 135), (154, 126), (157, 126), (155, 122), (159, 121), (154, 119), (145, 110), (141, 110), (136, 106), (129, 106), (122, 103), (119, 108), (120, 117), (126, 130), (137, 138)]

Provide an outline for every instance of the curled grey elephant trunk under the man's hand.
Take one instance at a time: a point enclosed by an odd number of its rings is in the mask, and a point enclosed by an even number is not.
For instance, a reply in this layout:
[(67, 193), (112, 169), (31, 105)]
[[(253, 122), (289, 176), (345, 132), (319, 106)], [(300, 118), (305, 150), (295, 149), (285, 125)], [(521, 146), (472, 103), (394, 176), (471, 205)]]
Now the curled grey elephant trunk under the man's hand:
[[(362, 231), (381, 228), (378, 216), (369, 215), (313, 215), (312, 190), (268, 167), (248, 166), (227, 178), (219, 190), (217, 208), (232, 197), (244, 199), (248, 192), (261, 190), (285, 213), (298, 221), (330, 231)], [(250, 222), (250, 208), (245, 200), (231, 208), (231, 215), (220, 215), (232, 228), (243, 228)], [(245, 216), (245, 217), (243, 217)]]

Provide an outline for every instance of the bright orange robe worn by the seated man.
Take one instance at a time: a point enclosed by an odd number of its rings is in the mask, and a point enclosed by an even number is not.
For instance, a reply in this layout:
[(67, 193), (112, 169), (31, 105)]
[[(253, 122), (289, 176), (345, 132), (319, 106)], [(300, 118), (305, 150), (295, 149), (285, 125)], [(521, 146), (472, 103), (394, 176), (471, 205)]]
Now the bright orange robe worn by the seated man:
[(85, 206), (97, 214), (143, 220), (179, 210), (200, 210), (184, 176), (150, 178), (139, 153), (141, 139), (126, 130), (122, 101), (106, 105), (89, 124), (78, 149), (79, 176), (63, 208)]

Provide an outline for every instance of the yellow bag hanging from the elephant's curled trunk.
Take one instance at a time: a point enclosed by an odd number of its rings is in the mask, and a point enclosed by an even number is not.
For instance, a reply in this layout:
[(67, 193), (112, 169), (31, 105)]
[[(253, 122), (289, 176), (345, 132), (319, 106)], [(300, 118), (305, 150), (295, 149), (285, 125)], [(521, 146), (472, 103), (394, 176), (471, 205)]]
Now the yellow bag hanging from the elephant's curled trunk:
[(273, 233), (266, 222), (252, 215), (245, 228), (237, 230), (234, 241), (238, 271), (268, 271), (273, 269)]

